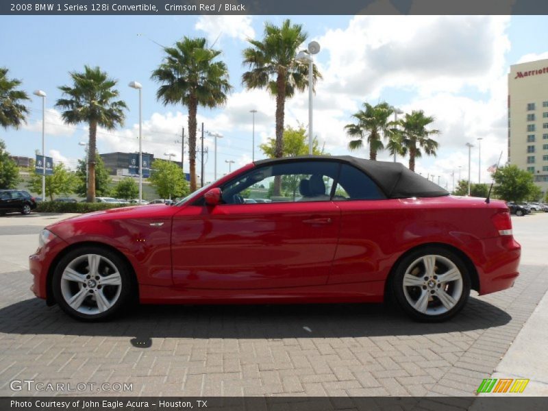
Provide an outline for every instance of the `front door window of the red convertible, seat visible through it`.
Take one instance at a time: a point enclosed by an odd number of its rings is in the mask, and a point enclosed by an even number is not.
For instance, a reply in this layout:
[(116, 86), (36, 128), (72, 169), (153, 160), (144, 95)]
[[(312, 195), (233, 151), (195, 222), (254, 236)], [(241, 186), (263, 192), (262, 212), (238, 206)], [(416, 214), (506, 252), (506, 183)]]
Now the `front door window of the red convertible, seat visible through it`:
[(227, 204), (329, 201), (338, 163), (301, 161), (263, 166), (221, 188)]

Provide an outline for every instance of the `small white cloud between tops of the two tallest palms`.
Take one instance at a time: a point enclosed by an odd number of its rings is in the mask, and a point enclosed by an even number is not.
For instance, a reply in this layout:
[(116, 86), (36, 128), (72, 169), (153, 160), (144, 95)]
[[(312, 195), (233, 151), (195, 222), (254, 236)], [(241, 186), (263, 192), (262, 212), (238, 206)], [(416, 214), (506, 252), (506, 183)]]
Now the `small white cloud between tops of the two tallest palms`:
[(198, 18), (195, 29), (206, 32), (210, 45), (216, 47), (223, 37), (247, 40), (255, 37), (255, 30), (251, 27), (251, 16), (211, 16), (204, 15)]

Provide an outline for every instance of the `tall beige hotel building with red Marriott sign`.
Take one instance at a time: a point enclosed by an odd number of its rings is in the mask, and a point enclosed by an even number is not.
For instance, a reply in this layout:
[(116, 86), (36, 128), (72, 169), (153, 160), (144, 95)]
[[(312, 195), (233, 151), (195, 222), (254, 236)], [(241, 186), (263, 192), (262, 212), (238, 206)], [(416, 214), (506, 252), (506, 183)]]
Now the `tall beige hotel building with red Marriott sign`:
[(510, 66), (508, 161), (548, 190), (548, 59)]

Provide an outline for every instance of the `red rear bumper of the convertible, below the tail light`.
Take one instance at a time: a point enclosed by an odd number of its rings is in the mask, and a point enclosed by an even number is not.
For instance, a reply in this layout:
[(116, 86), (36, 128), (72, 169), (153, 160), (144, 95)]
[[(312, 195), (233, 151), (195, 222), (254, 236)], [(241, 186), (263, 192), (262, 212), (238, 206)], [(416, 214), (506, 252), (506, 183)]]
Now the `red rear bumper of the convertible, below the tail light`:
[(512, 287), (519, 275), (521, 245), (513, 236), (488, 238), (482, 242), (482, 261), (476, 262), (479, 295)]

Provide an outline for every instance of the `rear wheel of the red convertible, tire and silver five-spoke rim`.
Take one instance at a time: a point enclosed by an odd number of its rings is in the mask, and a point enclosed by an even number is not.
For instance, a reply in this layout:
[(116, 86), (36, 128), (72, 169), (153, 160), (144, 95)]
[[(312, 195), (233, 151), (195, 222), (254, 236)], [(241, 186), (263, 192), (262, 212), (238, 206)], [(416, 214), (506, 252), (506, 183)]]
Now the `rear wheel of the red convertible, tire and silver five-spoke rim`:
[[(440, 277), (447, 276), (447, 281)], [(425, 323), (447, 321), (464, 306), (471, 290), (469, 270), (456, 253), (427, 247), (405, 256), (395, 267), (393, 295), (409, 316)]]

